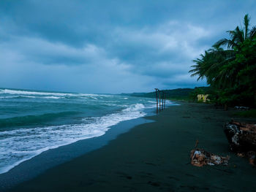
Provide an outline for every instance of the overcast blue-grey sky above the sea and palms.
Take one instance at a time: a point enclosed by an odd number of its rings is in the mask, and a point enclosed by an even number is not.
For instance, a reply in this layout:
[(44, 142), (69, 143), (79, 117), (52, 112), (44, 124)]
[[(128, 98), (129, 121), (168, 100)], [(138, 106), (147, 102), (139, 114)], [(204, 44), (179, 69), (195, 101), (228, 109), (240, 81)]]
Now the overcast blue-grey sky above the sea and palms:
[(150, 92), (206, 85), (188, 73), (255, 0), (0, 1), (0, 88)]

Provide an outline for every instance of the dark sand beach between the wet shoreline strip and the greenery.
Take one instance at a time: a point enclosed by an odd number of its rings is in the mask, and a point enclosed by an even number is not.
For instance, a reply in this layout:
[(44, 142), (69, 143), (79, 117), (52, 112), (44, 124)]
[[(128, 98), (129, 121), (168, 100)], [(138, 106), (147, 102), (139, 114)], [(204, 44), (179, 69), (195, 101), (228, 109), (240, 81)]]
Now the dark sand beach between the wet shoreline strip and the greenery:
[[(228, 149), (222, 130), (231, 111), (184, 103), (149, 117), (108, 145), (11, 191), (256, 191), (256, 168)], [(230, 155), (228, 166), (195, 167), (189, 153), (198, 147)]]

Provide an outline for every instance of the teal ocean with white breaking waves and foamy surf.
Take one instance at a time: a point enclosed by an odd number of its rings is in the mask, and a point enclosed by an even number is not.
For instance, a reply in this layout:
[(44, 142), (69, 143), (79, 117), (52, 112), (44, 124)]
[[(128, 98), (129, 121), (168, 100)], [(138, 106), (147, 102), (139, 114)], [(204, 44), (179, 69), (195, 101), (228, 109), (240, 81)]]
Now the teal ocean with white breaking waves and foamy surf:
[(45, 150), (100, 137), (110, 126), (153, 112), (155, 102), (124, 95), (0, 88), (0, 174)]

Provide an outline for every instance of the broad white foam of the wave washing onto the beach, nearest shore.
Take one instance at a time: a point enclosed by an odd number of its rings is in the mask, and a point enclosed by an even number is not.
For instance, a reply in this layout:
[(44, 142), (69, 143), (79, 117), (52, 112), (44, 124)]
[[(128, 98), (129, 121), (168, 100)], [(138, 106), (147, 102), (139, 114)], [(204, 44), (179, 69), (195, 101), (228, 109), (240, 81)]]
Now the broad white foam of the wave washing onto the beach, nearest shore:
[(45, 150), (68, 145), (80, 139), (99, 137), (123, 120), (146, 115), (143, 104), (132, 104), (121, 112), (83, 119), (83, 123), (63, 126), (19, 128), (0, 131), (0, 173), (8, 172), (23, 161)]

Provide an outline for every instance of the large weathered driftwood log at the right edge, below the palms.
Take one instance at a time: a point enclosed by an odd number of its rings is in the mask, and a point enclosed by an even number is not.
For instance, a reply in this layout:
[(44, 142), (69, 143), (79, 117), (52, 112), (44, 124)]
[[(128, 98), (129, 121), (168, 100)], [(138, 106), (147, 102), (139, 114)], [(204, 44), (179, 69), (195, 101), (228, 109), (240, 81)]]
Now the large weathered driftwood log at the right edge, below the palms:
[(250, 164), (256, 164), (256, 124), (232, 121), (225, 123), (224, 131), (230, 144), (230, 150), (238, 156), (249, 158)]

